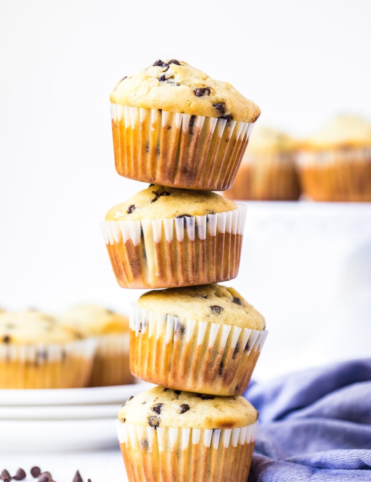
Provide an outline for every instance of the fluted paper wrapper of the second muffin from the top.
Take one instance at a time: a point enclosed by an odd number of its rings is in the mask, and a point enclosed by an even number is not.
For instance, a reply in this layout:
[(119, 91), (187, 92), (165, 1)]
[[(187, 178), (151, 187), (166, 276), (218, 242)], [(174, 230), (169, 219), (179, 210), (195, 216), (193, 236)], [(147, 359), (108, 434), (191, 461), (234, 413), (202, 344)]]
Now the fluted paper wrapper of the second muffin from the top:
[(238, 273), (246, 206), (205, 216), (102, 221), (104, 241), (123, 288), (216, 283)]

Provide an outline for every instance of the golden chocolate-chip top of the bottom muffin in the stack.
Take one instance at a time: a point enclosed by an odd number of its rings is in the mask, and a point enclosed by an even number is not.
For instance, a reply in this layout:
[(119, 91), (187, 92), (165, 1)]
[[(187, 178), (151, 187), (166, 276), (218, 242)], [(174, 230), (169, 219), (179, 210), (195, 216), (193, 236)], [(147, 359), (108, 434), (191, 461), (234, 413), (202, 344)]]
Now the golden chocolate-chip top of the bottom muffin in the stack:
[(150, 427), (232, 429), (256, 422), (257, 410), (242, 396), (216, 396), (154, 387), (130, 398), (123, 423)]

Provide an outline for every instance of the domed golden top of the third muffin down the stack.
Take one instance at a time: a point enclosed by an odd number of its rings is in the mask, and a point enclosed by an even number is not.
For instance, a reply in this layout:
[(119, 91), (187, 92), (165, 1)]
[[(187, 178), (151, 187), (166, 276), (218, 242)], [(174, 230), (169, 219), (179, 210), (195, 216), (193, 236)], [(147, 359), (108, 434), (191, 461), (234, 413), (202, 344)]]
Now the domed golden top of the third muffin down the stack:
[(217, 283), (144, 293), (141, 308), (179, 318), (264, 330), (264, 317), (233, 288)]

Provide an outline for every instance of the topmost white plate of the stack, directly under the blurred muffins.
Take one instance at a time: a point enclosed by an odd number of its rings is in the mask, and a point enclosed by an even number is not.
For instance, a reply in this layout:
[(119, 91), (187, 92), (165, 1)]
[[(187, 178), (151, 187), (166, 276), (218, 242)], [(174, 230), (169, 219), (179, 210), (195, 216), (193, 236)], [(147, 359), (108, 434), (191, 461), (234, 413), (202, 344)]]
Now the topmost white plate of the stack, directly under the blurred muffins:
[(114, 387), (0, 390), (0, 406), (4, 405), (93, 405), (124, 403), (130, 396), (153, 387), (142, 382)]

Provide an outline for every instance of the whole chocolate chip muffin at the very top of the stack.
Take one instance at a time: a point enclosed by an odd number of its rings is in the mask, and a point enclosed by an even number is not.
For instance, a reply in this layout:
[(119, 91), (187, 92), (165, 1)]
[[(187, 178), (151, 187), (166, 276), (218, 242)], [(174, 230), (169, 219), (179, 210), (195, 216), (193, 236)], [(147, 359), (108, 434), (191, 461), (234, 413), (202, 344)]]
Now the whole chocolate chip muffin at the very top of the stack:
[(164, 186), (228, 189), (259, 107), (184, 61), (156, 60), (110, 95), (118, 174)]

